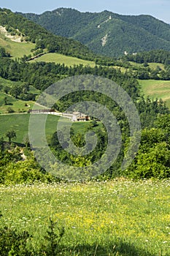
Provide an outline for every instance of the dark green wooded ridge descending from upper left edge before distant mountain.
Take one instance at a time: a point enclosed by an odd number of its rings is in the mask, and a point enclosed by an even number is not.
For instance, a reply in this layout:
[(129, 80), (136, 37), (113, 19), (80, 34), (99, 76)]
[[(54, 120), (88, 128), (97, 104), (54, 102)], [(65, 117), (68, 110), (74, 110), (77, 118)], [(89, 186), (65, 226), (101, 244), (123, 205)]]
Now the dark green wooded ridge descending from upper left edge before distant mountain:
[(47, 29), (42, 28), (23, 15), (16, 14), (7, 9), (0, 8), (0, 26), (9, 34), (21, 34), (26, 42), (33, 42), (34, 50), (44, 50), (49, 53), (62, 53), (67, 56), (77, 56), (82, 59), (90, 59), (93, 53), (82, 43), (74, 39), (56, 36)]

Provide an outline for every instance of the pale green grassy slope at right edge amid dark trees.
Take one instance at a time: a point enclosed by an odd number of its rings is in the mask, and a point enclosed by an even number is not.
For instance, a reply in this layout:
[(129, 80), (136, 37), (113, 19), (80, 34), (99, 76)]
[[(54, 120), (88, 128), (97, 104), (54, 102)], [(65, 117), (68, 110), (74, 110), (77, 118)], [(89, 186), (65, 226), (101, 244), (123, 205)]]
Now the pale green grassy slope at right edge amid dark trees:
[(170, 81), (164, 80), (139, 80), (144, 96), (153, 99), (163, 99), (170, 108)]

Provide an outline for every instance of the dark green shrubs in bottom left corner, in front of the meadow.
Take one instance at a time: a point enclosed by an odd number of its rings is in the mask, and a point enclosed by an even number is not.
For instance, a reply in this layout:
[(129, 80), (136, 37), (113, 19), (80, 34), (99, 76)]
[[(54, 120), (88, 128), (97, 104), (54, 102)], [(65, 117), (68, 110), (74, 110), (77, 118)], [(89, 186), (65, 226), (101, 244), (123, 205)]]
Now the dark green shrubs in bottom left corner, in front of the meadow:
[[(3, 217), (1, 214), (0, 217)], [(58, 227), (58, 233), (56, 232), (56, 224), (53, 219), (50, 219), (50, 224), (48, 226), (47, 235), (45, 236), (45, 244), (42, 248), (35, 249), (28, 248), (28, 241), (33, 240), (27, 231), (18, 233), (12, 227), (1, 227), (0, 228), (0, 252), (1, 256), (31, 256), (34, 253), (39, 253), (39, 255), (55, 256), (60, 252), (59, 243), (64, 234), (64, 228)], [(39, 252), (38, 252), (39, 251)]]

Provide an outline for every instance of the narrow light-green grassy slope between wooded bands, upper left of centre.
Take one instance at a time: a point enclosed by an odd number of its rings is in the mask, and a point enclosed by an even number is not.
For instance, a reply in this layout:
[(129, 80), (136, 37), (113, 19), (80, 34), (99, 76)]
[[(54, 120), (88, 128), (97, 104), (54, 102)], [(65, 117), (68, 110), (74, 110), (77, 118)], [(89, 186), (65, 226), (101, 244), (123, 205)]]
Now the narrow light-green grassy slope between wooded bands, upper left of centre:
[[(44, 56), (41, 56), (37, 59), (34, 59), (34, 61), (45, 61), (45, 62), (55, 62), (55, 64), (65, 64), (66, 66), (74, 66), (75, 65), (90, 65), (90, 67), (95, 66), (94, 61), (85, 61), (82, 59), (64, 56), (59, 53), (47, 53)], [(31, 61), (32, 62), (32, 61)]]

